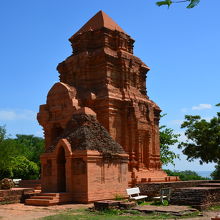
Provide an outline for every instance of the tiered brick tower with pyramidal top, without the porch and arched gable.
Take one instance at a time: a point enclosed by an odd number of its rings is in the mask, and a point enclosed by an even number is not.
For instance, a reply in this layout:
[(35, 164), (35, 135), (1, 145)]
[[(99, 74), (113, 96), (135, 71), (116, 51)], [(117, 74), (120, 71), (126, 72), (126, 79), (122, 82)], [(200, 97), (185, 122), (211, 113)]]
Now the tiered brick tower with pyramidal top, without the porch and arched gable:
[(82, 106), (129, 154), (131, 178), (162, 178), (160, 108), (149, 99), (149, 67), (133, 55), (134, 40), (99, 11), (69, 41), (73, 54), (57, 67), (60, 81), (74, 86)]

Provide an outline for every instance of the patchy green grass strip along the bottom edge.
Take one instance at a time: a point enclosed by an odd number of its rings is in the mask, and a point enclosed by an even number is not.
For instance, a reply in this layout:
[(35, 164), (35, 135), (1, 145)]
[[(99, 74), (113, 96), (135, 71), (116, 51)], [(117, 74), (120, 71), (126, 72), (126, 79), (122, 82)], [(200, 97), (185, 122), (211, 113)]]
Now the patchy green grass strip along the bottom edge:
[(142, 219), (183, 219), (183, 218), (193, 218), (196, 217), (198, 213), (193, 213), (183, 217), (177, 217), (170, 214), (142, 214), (138, 211), (127, 210), (108, 210), (102, 212), (90, 212), (88, 210), (68, 210), (66, 212), (47, 216), (42, 218), (43, 220), (142, 220)]

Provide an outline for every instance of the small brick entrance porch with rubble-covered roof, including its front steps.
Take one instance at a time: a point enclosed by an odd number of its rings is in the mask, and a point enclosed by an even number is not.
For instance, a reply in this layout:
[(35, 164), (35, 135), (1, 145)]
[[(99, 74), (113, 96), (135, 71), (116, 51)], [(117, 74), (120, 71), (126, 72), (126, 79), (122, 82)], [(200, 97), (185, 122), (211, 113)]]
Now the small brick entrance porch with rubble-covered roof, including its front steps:
[[(88, 203), (125, 195), (128, 155), (88, 108), (76, 110), (63, 134), (41, 155), (44, 195), (26, 200), (30, 205)], [(57, 193), (54, 201), (47, 193)], [(60, 194), (59, 194), (60, 193)], [(46, 201), (47, 200), (47, 201)]]

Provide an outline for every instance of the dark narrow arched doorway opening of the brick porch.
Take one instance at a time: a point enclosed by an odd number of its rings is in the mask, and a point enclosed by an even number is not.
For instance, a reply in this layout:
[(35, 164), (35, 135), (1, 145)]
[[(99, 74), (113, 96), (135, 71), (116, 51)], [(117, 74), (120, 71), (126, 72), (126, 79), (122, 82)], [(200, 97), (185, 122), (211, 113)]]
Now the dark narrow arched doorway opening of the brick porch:
[(66, 159), (63, 147), (59, 148), (57, 155), (57, 190), (66, 192)]

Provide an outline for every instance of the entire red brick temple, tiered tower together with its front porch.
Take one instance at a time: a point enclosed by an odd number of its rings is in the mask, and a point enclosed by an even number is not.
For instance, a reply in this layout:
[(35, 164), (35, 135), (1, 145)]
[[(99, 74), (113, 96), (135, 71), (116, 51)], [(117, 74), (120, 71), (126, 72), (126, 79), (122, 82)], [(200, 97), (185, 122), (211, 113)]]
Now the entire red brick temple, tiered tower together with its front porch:
[(69, 41), (72, 55), (57, 66), (60, 82), (37, 117), (43, 192), (89, 202), (170, 180), (161, 169), (161, 110), (147, 96), (149, 67), (134, 56), (134, 40), (99, 11)]

